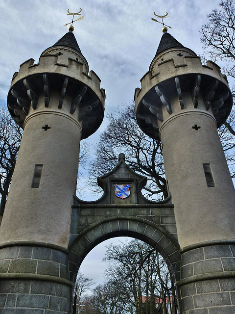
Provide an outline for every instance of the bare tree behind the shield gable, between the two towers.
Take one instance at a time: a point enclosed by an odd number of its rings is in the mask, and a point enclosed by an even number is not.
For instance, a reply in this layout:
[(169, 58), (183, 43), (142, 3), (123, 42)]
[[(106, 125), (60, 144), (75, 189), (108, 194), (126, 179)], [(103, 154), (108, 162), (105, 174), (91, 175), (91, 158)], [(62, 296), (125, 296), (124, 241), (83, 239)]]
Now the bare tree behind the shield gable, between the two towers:
[(124, 153), (129, 167), (148, 178), (145, 197), (167, 197), (164, 164), (160, 140), (145, 135), (136, 122), (134, 104), (125, 104), (108, 115), (107, 129), (100, 135), (95, 147), (96, 158), (90, 165), (90, 178), (97, 189), (96, 178), (111, 171), (118, 162), (118, 154)]

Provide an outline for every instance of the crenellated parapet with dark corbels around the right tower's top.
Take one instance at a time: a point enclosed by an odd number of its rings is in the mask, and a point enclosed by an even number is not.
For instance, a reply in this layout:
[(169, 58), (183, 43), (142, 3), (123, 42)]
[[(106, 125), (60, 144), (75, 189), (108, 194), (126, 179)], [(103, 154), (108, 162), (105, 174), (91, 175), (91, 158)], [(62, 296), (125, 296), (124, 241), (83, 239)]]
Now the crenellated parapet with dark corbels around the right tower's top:
[[(161, 56), (156, 57), (150, 71), (141, 78), (141, 88), (135, 90), (137, 120), (141, 129), (151, 137), (159, 136), (163, 121), (174, 112), (178, 114), (179, 110), (186, 110), (186, 103), (191, 103), (190, 110), (210, 112), (220, 127), (232, 108), (232, 94), (220, 67), (211, 61), (203, 65), (200, 57), (195, 55), (173, 52), (171, 58), (163, 61)], [(175, 97), (178, 101), (172, 106)]]

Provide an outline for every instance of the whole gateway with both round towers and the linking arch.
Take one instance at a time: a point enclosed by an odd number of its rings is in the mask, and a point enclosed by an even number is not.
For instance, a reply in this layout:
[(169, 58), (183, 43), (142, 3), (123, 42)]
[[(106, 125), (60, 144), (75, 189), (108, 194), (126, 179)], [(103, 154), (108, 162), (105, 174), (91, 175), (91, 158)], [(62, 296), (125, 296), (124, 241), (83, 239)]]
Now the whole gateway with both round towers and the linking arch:
[(235, 190), (216, 130), (232, 108), (226, 78), (164, 28), (135, 103), (141, 130), (161, 139), (174, 205), (144, 199), (123, 155), (99, 178), (101, 199), (73, 199), (80, 140), (100, 126), (105, 91), (72, 30), (25, 61), (8, 93), (24, 134), (0, 225), (0, 313), (71, 313), (81, 262), (117, 235), (164, 256), (179, 313), (234, 313)]

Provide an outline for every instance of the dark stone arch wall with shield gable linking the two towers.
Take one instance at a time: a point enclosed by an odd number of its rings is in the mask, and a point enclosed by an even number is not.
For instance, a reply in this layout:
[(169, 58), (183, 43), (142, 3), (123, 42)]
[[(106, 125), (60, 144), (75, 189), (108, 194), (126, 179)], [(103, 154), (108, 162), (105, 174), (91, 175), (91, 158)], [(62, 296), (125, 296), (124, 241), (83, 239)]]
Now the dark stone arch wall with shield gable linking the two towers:
[[(75, 282), (81, 262), (97, 244), (115, 236), (131, 236), (156, 248), (168, 265), (172, 281), (178, 281), (181, 256), (170, 197), (162, 202), (145, 199), (141, 189), (146, 178), (126, 165), (124, 154), (119, 155), (117, 167), (98, 178), (98, 183), (105, 191), (99, 200), (84, 202), (74, 198), (69, 245), (70, 279)], [(129, 186), (129, 195), (125, 193), (126, 197), (117, 197), (116, 185), (123, 192), (124, 187)]]

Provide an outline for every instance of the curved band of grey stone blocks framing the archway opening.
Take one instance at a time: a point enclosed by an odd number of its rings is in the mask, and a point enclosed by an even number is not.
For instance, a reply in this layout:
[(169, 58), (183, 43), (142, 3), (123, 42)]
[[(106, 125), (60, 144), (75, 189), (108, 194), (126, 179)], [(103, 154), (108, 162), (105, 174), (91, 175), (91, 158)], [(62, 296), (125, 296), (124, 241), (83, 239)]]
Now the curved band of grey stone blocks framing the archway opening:
[(153, 246), (164, 257), (172, 282), (179, 280), (181, 255), (178, 242), (162, 227), (133, 216), (114, 216), (99, 220), (73, 239), (68, 248), (70, 280), (75, 282), (82, 261), (96, 245), (116, 236), (134, 237)]

